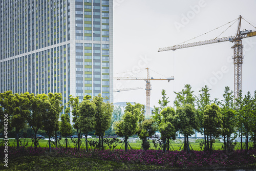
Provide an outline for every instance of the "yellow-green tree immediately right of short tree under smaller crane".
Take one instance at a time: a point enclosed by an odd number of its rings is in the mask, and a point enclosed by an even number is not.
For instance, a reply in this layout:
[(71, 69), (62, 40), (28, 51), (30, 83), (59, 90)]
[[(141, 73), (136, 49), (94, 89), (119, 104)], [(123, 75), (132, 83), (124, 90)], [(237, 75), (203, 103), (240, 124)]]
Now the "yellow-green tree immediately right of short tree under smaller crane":
[(166, 140), (167, 140), (167, 151), (169, 151), (169, 140), (176, 139), (177, 130), (177, 120), (175, 110), (173, 108), (167, 107), (161, 111), (162, 121), (159, 124), (159, 131), (161, 133), (161, 139), (164, 142), (163, 152), (166, 151)]

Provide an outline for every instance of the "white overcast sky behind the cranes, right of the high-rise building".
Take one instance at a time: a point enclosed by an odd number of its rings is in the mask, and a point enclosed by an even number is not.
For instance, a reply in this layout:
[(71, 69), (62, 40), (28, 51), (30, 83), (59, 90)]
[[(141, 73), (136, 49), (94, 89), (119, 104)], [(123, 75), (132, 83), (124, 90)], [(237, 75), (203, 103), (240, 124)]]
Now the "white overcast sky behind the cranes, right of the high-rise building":
[[(173, 106), (174, 91), (190, 84), (195, 95), (210, 84), (212, 98), (222, 99), (224, 88), (234, 89), (234, 65), (231, 42), (165, 51), (158, 48), (174, 46), (201, 35), (242, 15), (256, 27), (254, 0), (113, 0), (114, 1), (114, 77), (116, 74), (150, 68), (151, 77), (174, 76), (174, 81), (151, 81), (151, 107), (158, 106), (162, 89), (166, 90)], [(184, 16), (188, 17), (186, 19)], [(214, 39), (231, 25), (225, 25), (209, 34), (189, 42)], [(219, 37), (234, 36), (238, 23), (233, 24)], [(241, 30), (256, 30), (242, 20)], [(242, 40), (244, 63), (242, 91), (251, 94), (256, 90), (256, 36)], [(162, 76), (163, 75), (163, 76)], [(146, 70), (135, 74), (146, 77)], [(207, 83), (208, 82), (208, 83)], [(114, 102), (146, 103), (145, 81), (114, 80), (114, 89), (142, 87), (140, 90), (114, 93)]]

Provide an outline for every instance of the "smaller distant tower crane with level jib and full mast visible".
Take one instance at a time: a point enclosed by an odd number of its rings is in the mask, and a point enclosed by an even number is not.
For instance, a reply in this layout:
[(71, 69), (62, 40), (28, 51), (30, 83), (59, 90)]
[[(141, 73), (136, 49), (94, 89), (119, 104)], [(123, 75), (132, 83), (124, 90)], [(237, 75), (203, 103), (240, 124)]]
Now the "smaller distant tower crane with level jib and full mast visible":
[(145, 118), (150, 117), (150, 93), (151, 93), (151, 80), (174, 80), (174, 77), (168, 77), (168, 78), (150, 78), (150, 72), (148, 71), (149, 68), (146, 68), (147, 70), (147, 77), (146, 78), (139, 78), (139, 77), (114, 77), (114, 79), (120, 80), (120, 79), (126, 79), (126, 80), (144, 80), (146, 81), (146, 115)]

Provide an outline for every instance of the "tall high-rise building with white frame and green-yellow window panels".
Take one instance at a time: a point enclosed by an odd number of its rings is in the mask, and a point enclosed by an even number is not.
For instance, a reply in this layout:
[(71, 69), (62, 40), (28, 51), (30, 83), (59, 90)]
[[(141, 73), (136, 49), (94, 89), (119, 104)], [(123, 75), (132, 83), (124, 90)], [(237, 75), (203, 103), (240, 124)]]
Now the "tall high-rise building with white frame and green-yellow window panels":
[(113, 102), (113, 0), (2, 0), (0, 92)]

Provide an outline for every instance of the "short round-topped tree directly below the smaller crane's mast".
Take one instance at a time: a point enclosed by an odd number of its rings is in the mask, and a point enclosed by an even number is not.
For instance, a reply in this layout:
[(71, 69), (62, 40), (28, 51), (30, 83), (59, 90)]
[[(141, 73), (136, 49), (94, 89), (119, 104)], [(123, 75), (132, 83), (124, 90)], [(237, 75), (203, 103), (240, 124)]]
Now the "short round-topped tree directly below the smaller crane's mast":
[(145, 119), (141, 123), (138, 124), (137, 134), (139, 138), (142, 140), (142, 148), (143, 150), (147, 150), (150, 147), (150, 143), (147, 142), (147, 138), (151, 137), (155, 134), (157, 127), (154, 125), (154, 120)]

